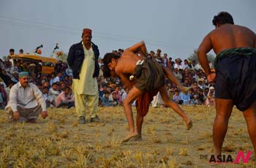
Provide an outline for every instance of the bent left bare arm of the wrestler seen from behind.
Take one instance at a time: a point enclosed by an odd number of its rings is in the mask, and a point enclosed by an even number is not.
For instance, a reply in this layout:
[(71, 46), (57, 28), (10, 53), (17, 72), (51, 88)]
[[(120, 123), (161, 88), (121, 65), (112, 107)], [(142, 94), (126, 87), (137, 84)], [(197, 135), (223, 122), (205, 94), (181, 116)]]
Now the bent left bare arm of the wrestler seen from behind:
[(203, 39), (203, 42), (201, 42), (200, 46), (198, 47), (197, 50), (197, 56), (198, 60), (203, 67), (203, 69), (206, 72), (206, 75), (211, 74), (211, 69), (208, 64), (208, 59), (206, 54), (212, 49), (212, 44), (211, 44), (211, 35), (207, 34), (206, 37)]

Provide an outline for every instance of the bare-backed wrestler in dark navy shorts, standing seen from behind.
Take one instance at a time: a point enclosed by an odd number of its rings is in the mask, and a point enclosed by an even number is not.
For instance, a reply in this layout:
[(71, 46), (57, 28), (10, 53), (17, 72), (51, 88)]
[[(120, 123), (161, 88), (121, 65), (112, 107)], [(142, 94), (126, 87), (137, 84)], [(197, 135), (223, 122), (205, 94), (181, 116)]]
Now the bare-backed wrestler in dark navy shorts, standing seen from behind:
[[(249, 137), (256, 151), (256, 36), (244, 26), (234, 25), (228, 12), (212, 20), (216, 29), (204, 37), (197, 50), (209, 83), (216, 80), (216, 111), (213, 138), (215, 155), (221, 155), (233, 105), (243, 112)], [(206, 53), (217, 54), (216, 74), (208, 66)], [(255, 154), (256, 156), (256, 154)]]

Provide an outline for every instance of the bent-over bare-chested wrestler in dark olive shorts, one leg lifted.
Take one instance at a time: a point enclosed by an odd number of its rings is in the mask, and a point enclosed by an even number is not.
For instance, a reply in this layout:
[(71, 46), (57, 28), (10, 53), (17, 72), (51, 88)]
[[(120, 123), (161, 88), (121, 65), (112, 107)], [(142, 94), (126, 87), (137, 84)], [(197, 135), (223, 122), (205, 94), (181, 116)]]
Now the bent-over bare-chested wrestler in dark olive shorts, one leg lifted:
[[(145, 58), (144, 56), (147, 56), (146, 45), (144, 42), (139, 42), (124, 50), (121, 57), (113, 53), (107, 53), (103, 58), (105, 76), (110, 76), (109, 71), (114, 71), (116, 72), (116, 75), (121, 78), (122, 83), (131, 88), (127, 98), (124, 99), (123, 102), (124, 112), (129, 126), (129, 133), (127, 134), (127, 137), (124, 138), (123, 142), (126, 142), (133, 137), (138, 140), (141, 139), (143, 115), (138, 112), (136, 118), (137, 128), (135, 129), (131, 104), (145, 92), (159, 91), (163, 102), (184, 119), (187, 129), (192, 127), (192, 121), (181, 110), (178, 104), (168, 99), (167, 91), (165, 89), (165, 72), (167, 72), (165, 68), (157, 63), (156, 60)], [(127, 75), (135, 76), (135, 85), (132, 86), (129, 76)]]

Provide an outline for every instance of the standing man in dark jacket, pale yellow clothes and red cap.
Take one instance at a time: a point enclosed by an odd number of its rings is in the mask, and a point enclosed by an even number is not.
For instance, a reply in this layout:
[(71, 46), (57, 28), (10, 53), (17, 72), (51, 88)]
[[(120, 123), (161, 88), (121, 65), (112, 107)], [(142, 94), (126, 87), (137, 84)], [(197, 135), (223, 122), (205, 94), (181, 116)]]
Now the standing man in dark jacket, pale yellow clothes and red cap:
[(72, 91), (80, 124), (86, 123), (86, 105), (90, 122), (99, 122), (98, 58), (99, 49), (91, 42), (91, 29), (84, 28), (82, 41), (70, 47), (67, 57), (67, 63), (73, 72)]

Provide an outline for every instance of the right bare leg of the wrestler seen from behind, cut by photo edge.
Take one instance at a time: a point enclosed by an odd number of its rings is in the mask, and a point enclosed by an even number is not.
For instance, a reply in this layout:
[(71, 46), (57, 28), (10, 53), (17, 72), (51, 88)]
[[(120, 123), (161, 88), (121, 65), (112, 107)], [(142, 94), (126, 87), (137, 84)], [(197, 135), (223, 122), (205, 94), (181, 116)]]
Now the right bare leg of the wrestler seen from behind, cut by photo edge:
[(251, 138), (253, 148), (255, 149), (256, 161), (256, 102), (254, 102), (247, 110), (245, 110), (243, 114), (247, 123), (249, 137)]

